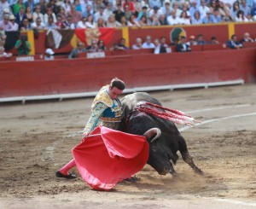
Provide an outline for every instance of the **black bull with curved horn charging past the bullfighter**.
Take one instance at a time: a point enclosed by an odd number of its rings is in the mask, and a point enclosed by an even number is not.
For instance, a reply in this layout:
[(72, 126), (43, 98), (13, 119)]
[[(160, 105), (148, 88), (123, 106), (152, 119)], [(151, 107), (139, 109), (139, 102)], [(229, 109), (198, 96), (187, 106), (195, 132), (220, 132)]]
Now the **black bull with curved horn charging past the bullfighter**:
[(201, 169), (192, 160), (183, 136), (172, 121), (157, 118), (152, 114), (134, 111), (139, 103), (151, 102), (161, 105), (159, 101), (144, 92), (127, 95), (121, 101), (124, 105), (125, 115), (120, 125), (120, 131), (141, 136), (152, 128), (159, 128), (161, 131), (160, 137), (154, 142), (151, 142), (151, 139), (147, 137), (149, 144), (148, 165), (151, 165), (160, 175), (166, 175), (168, 172), (176, 175), (172, 163), (176, 164), (177, 151), (179, 151), (183, 160), (196, 173), (202, 173)]

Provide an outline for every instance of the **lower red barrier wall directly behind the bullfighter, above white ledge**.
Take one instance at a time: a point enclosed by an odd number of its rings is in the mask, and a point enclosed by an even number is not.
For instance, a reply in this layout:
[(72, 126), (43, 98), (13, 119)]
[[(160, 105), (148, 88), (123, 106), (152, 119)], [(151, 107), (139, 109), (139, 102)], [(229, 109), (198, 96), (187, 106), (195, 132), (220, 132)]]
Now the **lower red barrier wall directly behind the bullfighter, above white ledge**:
[[(131, 50), (132, 51), (132, 50)], [(0, 97), (93, 92), (113, 77), (127, 88), (244, 79), (253, 82), (256, 49), (113, 55), (55, 61), (2, 61)]]

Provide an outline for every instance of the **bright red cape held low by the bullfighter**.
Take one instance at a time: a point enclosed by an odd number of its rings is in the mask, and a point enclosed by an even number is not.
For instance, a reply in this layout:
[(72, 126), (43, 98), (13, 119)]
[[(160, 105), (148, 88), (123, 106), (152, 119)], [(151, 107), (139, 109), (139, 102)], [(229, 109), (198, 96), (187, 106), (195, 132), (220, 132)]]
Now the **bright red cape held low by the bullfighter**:
[(81, 177), (93, 189), (109, 190), (140, 171), (148, 161), (145, 136), (98, 126), (73, 148)]

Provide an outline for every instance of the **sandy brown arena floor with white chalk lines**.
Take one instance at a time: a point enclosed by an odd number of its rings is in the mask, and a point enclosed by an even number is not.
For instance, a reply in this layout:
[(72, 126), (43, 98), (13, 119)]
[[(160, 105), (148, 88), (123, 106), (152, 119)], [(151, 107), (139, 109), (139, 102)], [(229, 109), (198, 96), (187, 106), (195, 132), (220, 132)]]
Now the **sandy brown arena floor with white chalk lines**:
[[(256, 85), (151, 92), (201, 125), (178, 127), (204, 176), (181, 158), (179, 177), (150, 166), (141, 181), (99, 192), (55, 177), (89, 119), (93, 98), (0, 107), (0, 208), (256, 208)], [(73, 170), (79, 176), (76, 169)]]

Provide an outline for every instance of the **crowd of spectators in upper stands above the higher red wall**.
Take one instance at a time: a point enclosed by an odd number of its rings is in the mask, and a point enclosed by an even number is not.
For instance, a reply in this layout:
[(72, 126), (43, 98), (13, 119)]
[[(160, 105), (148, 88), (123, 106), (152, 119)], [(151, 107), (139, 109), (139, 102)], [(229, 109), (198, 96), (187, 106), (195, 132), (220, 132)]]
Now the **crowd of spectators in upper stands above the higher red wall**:
[(256, 20), (256, 0), (1, 0), (4, 31)]

